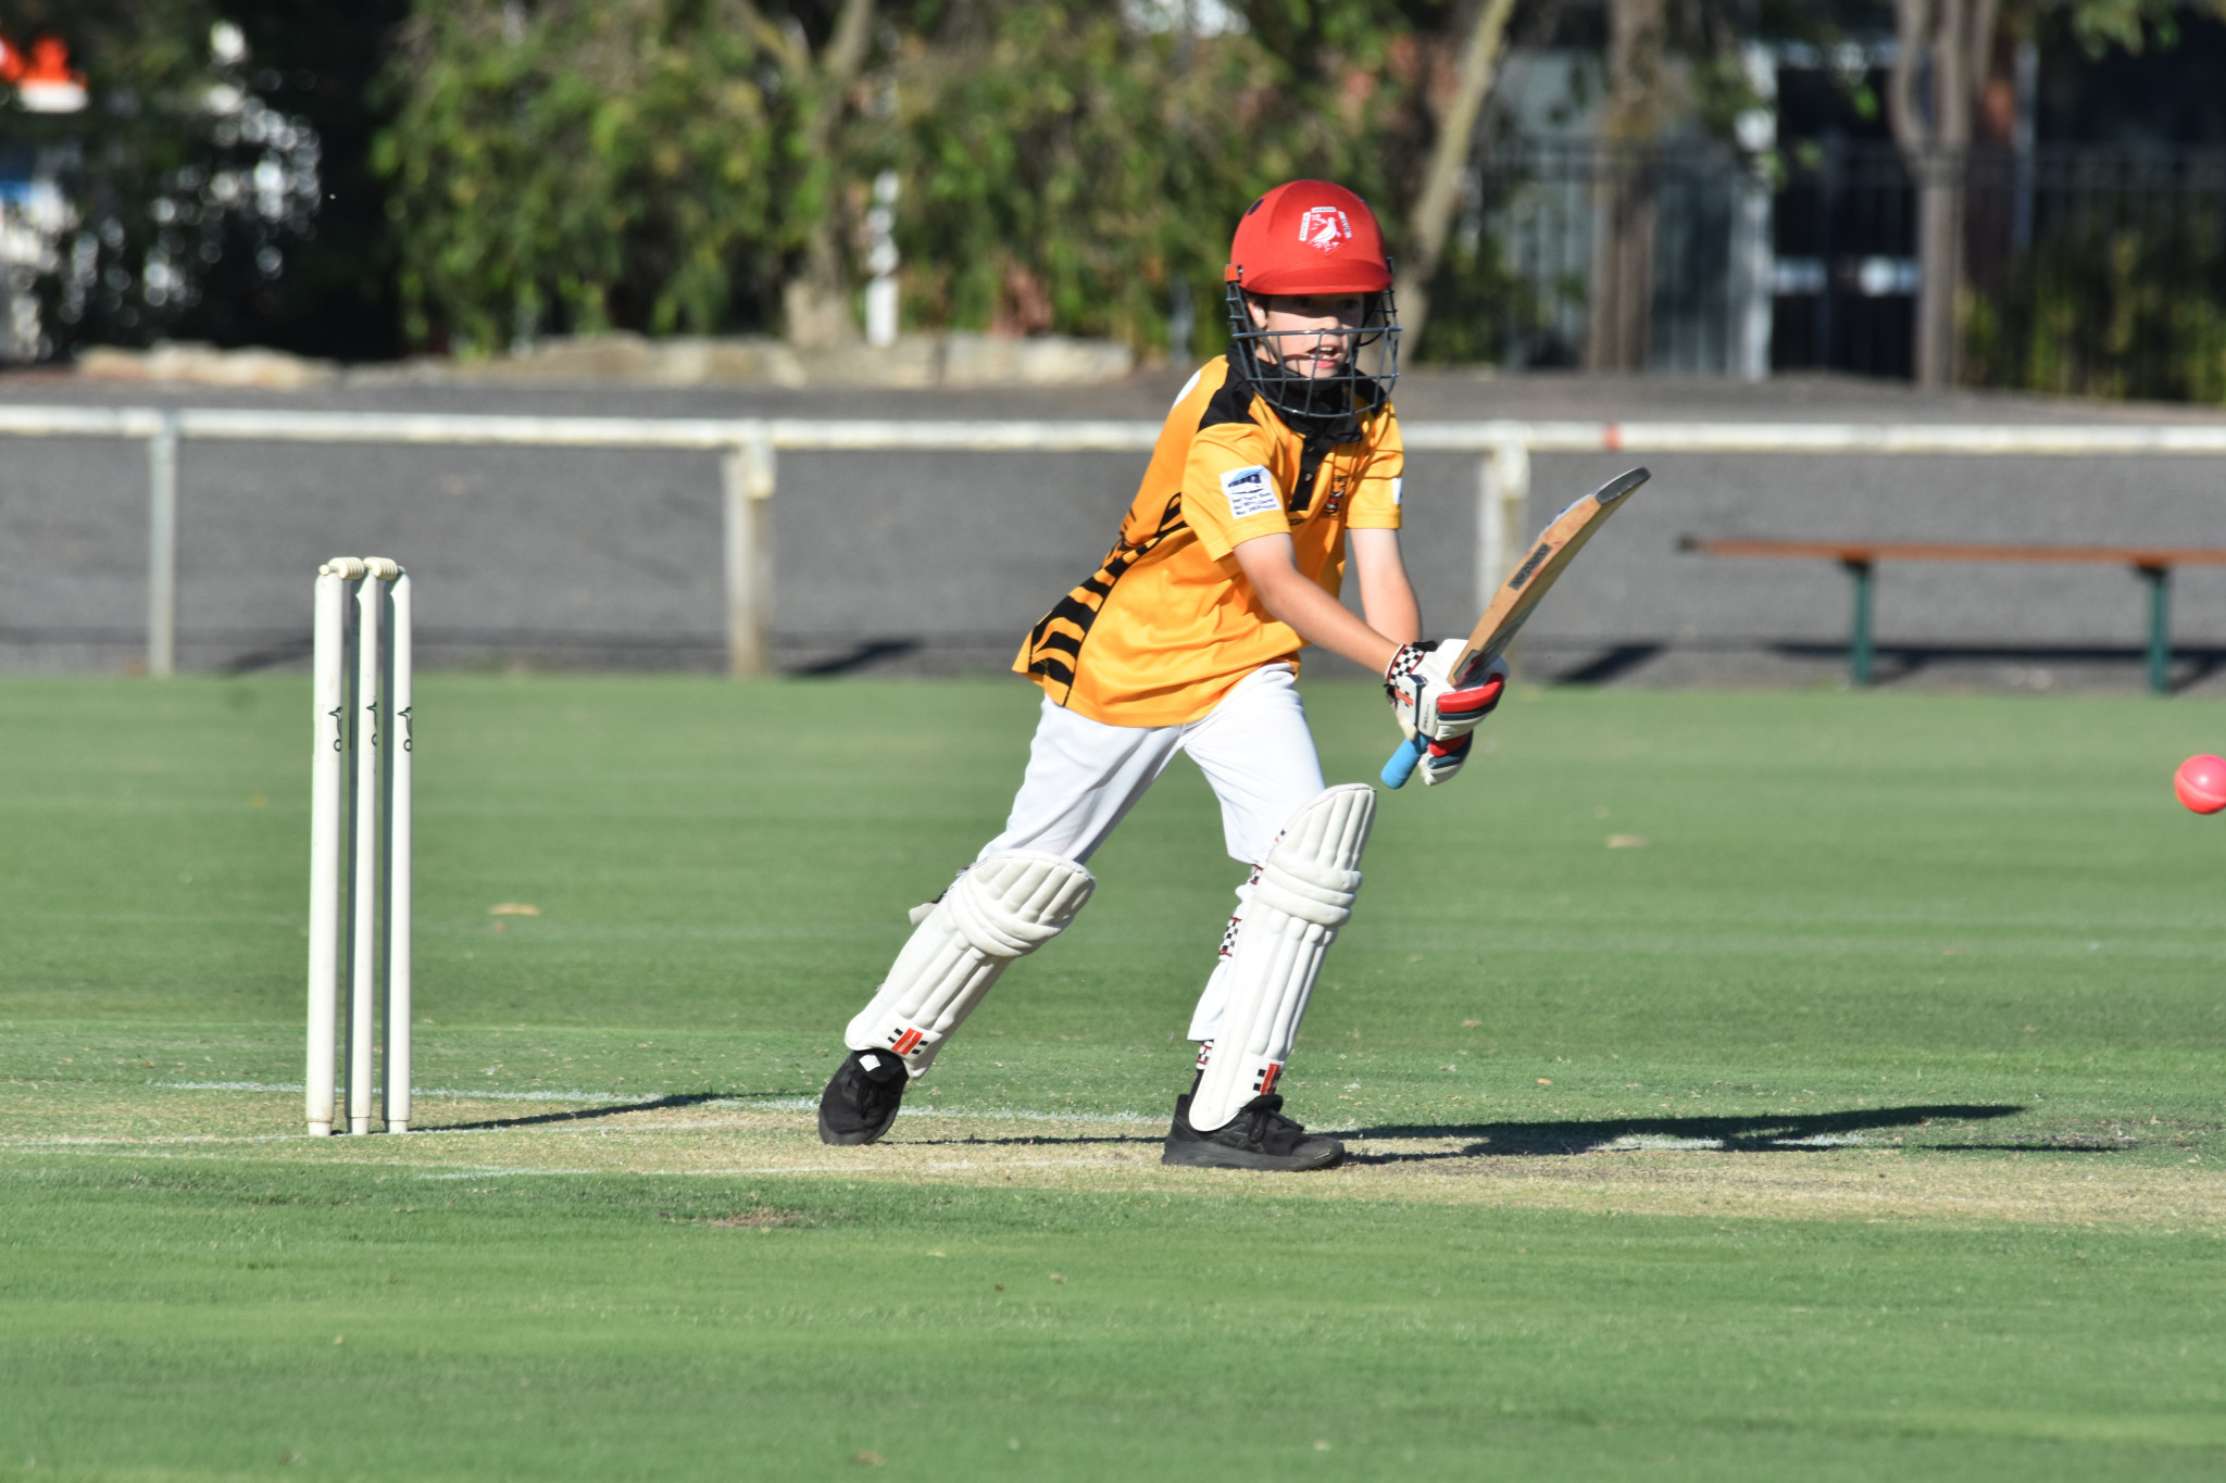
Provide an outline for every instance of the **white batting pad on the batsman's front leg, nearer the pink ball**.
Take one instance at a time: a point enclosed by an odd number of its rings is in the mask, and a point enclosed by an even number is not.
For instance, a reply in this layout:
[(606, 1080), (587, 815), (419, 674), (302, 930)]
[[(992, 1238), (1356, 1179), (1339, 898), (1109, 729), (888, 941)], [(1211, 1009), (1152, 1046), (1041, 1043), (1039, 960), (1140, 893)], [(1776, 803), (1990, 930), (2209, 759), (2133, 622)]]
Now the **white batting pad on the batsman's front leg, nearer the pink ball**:
[(1229, 956), (1229, 996), (1191, 1094), (1191, 1127), (1211, 1132), (1275, 1089), (1322, 954), (1353, 914), (1373, 820), (1376, 789), (1342, 783), (1302, 805), (1267, 852)]

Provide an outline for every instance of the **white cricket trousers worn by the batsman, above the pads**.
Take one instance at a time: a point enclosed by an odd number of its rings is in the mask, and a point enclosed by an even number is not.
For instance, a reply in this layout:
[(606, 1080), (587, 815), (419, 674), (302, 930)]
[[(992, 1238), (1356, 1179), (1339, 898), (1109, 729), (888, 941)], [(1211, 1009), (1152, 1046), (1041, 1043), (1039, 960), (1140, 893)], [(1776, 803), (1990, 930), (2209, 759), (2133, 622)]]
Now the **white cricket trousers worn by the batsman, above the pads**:
[[(1289, 665), (1255, 669), (1220, 705), (1180, 727), (1111, 727), (1046, 698), (1013, 816), (977, 858), (1042, 849), (1089, 863), (1178, 752), (1189, 752), (1206, 774), (1222, 803), (1229, 858), (1242, 865), (1262, 863), (1291, 814), (1322, 792), (1322, 763)], [(1240, 885), (1240, 912), (1249, 896), (1251, 885)], [(1191, 1016), (1193, 1041), (1213, 1038), (1224, 981), (1222, 969), (1206, 981)]]

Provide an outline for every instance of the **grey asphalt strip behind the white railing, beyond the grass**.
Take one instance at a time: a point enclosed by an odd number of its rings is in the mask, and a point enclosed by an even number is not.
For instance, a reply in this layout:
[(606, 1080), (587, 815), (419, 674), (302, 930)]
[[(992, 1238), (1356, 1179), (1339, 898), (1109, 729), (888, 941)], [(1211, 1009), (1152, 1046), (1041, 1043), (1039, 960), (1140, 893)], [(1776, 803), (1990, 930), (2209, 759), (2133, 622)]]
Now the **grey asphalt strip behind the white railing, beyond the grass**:
[[(1182, 374), (1060, 391), (376, 385), (316, 394), (0, 376), (0, 405), (174, 405), (603, 416), (1158, 418)], [(1921, 396), (1852, 378), (1409, 374), (1402, 420), (1710, 418), (2126, 422), (2186, 407)], [(1638, 458), (1540, 456), (1531, 525)], [(2217, 458), (1649, 456), (1654, 482), (1525, 636), (1536, 678), (1810, 685), (1843, 667), (1848, 578), (1821, 560), (1690, 556), (1678, 538), (2226, 547)], [(1002, 667), (1104, 556), (1142, 454), (784, 454), (775, 651), (788, 671)], [(1418, 454), (1407, 554), (1431, 631), (1476, 616), (1476, 460)], [(410, 567), (425, 667), (719, 669), (719, 469), (710, 454), (187, 442), (187, 671), (301, 665), (332, 554)], [(140, 442), (0, 438), (0, 669), (118, 674), (145, 647)], [(1888, 685), (2141, 685), (2146, 596), (2119, 567), (1883, 565)], [(2226, 569), (2175, 578), (2177, 683), (2226, 689)], [(1318, 671), (1349, 665), (1324, 658)]]

